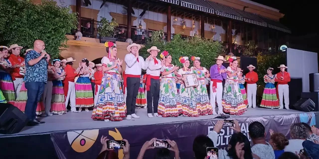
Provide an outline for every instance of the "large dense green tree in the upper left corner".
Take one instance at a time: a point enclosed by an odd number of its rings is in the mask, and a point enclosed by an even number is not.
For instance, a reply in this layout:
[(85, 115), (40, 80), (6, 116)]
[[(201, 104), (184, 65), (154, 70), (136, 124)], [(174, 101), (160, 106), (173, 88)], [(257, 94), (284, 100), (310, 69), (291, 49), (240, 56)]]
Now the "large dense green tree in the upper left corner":
[(33, 42), (41, 39), (52, 58), (58, 58), (67, 45), (65, 37), (77, 28), (77, 15), (70, 7), (57, 6), (53, 0), (33, 4), (30, 0), (1, 0), (0, 44), (33, 48)]

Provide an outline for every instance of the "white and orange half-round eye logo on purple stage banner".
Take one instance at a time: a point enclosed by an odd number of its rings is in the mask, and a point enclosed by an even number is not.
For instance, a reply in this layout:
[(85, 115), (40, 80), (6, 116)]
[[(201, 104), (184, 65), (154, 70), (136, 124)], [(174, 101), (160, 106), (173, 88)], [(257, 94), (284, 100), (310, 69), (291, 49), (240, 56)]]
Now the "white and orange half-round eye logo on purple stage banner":
[(76, 152), (90, 149), (99, 135), (99, 129), (67, 132), (71, 148)]

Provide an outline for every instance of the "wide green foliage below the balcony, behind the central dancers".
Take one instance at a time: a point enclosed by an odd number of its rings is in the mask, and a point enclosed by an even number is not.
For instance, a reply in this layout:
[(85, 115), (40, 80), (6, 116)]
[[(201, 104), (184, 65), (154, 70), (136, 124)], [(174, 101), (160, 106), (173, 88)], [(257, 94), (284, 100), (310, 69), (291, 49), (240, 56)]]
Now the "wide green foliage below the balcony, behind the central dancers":
[[(162, 40), (162, 31), (154, 31), (152, 39), (147, 41), (143, 48), (140, 50), (140, 55), (144, 58), (149, 56), (146, 51), (152, 46), (156, 46), (159, 50), (159, 54), (166, 50), (172, 55), (172, 64), (177, 66), (182, 66), (178, 61), (181, 56), (196, 56), (201, 58), (201, 66), (209, 69), (211, 65), (216, 63), (216, 58), (221, 52), (223, 52), (223, 46), (218, 41), (208, 40), (201, 37), (192, 37), (187, 39), (182, 39), (180, 34), (174, 35), (174, 38), (170, 42)], [(158, 58), (159, 55), (158, 55)], [(191, 63), (190, 66), (193, 66)]]

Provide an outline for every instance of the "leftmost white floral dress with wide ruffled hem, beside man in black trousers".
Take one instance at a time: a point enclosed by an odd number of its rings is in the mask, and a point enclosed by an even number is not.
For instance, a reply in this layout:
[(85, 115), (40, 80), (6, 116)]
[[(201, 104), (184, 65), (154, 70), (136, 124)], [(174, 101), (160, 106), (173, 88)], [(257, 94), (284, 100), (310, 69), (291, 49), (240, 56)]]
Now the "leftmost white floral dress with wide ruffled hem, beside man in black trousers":
[[(102, 66), (111, 67), (116, 59), (104, 56)], [(104, 72), (98, 97), (97, 105), (94, 106), (92, 119), (122, 121), (126, 116), (126, 104), (123, 99), (123, 91), (120, 83), (119, 65)]]

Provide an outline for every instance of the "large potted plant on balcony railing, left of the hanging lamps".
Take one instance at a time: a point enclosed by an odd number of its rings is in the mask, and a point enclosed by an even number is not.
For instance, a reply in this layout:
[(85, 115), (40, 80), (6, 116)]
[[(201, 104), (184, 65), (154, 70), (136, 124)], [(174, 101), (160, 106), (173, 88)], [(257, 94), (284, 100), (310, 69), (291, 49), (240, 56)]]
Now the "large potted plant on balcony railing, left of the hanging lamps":
[(119, 26), (119, 24), (116, 22), (116, 19), (112, 18), (111, 21), (108, 21), (105, 17), (100, 18), (101, 20), (97, 22), (97, 31), (100, 36), (100, 43), (105, 43), (106, 41), (115, 42), (116, 38), (114, 37), (117, 34), (115, 29)]

